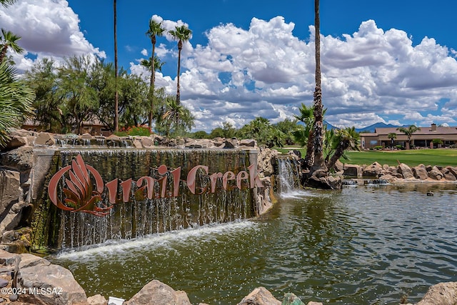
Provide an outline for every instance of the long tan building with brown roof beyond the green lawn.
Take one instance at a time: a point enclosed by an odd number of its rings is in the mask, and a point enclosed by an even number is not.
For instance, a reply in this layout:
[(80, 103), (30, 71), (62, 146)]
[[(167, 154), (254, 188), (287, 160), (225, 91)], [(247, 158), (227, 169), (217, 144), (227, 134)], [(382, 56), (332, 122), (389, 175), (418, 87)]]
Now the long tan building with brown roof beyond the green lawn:
[[(411, 136), (411, 144), (416, 147), (433, 148), (447, 147), (457, 144), (457, 126), (431, 126), (419, 127), (420, 130)], [(396, 139), (388, 139), (388, 134), (395, 133)], [(396, 127), (376, 128), (373, 133), (361, 133), (361, 148), (372, 149), (375, 146), (382, 148), (401, 145), (408, 149), (408, 136)], [(441, 140), (441, 141), (439, 141)], [(438, 144), (441, 142), (441, 144)]]

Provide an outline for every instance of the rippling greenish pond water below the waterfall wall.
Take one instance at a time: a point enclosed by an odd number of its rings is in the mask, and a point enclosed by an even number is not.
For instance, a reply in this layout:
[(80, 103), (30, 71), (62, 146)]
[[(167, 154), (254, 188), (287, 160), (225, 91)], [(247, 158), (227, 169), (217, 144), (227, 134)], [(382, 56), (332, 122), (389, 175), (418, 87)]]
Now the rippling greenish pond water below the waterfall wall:
[[(426, 196), (433, 191), (435, 196)], [(283, 194), (259, 219), (153, 235), (51, 258), (88, 296), (129, 299), (158, 279), (193, 304), (264, 286), (324, 304), (416, 302), (457, 281), (457, 188), (358, 186)]]

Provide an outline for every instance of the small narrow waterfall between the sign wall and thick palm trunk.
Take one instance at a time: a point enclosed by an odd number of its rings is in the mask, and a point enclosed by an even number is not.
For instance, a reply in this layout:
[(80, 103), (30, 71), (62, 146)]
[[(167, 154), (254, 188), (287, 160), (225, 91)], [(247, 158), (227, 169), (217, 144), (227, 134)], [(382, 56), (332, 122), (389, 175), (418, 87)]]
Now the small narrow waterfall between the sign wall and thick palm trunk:
[(291, 156), (278, 156), (277, 161), (277, 191), (280, 194), (288, 193), (301, 188), (298, 164)]

